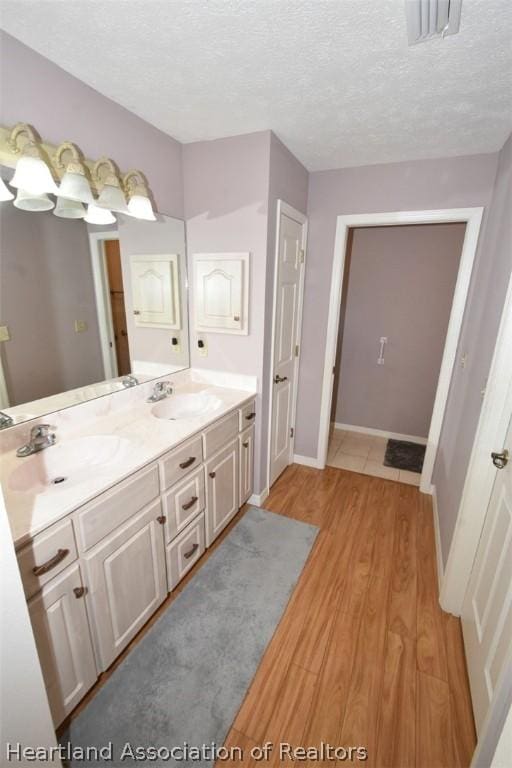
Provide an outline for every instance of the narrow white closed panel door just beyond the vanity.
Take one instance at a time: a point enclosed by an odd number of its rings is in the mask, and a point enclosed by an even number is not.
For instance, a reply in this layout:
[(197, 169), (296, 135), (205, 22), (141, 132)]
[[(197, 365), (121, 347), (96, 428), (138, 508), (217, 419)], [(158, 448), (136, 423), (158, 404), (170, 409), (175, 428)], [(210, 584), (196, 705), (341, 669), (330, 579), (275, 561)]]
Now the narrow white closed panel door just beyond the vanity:
[(305, 218), (281, 204), (274, 289), (270, 485), (291, 463), (297, 398)]

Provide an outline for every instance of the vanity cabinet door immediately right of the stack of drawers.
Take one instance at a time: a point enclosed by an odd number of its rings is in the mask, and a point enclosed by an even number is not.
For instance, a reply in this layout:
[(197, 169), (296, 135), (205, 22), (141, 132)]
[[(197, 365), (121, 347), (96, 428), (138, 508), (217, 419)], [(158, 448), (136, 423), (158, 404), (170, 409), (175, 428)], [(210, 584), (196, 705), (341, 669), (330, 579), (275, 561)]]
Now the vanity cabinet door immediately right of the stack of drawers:
[(206, 546), (239, 508), (238, 438), (206, 464)]

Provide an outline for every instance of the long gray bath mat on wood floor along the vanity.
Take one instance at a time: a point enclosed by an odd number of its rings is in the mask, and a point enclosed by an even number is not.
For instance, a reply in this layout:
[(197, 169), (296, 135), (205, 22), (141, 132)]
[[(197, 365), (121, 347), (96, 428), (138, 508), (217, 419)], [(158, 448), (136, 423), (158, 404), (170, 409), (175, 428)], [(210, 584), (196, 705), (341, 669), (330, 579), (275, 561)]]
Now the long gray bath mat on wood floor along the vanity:
[(135, 764), (128, 743), (164, 750), (138, 765), (213, 765), (165, 750), (222, 745), (317, 533), (251, 507), (61, 738), (111, 756), (69, 764)]

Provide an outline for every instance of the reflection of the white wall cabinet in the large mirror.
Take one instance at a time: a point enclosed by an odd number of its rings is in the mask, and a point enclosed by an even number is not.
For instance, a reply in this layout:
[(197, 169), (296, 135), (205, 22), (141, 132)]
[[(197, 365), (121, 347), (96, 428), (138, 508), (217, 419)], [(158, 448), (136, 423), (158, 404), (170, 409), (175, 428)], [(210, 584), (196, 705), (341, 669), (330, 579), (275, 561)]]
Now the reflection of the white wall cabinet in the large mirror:
[(135, 325), (181, 328), (178, 254), (132, 256)]

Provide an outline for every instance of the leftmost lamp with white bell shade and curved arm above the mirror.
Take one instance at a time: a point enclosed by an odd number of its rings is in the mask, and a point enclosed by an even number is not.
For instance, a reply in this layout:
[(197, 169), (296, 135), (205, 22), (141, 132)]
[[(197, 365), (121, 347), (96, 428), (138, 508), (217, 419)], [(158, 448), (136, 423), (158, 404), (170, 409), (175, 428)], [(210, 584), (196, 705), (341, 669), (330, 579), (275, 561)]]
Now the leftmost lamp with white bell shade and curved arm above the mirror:
[(34, 129), (26, 123), (18, 123), (12, 129), (9, 145), (14, 154), (21, 153), (10, 182), (11, 186), (36, 196), (47, 193), (55, 195), (57, 185), (43, 158), (40, 141)]

